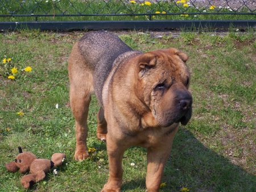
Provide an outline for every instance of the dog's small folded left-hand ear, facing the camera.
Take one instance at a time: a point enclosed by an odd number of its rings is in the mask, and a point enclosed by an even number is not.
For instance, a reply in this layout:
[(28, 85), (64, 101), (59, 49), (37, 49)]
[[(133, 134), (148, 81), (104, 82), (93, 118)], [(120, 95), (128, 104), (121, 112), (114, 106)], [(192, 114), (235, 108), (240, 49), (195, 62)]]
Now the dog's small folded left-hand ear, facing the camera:
[(144, 53), (138, 58), (139, 77), (142, 77), (149, 69), (156, 65), (156, 55)]

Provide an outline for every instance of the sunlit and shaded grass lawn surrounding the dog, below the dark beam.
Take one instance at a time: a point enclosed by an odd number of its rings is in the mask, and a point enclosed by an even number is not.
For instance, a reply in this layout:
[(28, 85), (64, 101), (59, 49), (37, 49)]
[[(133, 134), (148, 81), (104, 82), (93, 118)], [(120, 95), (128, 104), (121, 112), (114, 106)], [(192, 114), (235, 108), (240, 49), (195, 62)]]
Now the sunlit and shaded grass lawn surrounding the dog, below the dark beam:
[[(20, 173), (9, 173), (18, 146), (41, 158), (67, 155), (63, 166), (34, 185), (37, 191), (100, 191), (108, 178), (106, 146), (96, 139), (95, 97), (90, 105), (90, 158), (77, 162), (74, 119), (69, 106), (67, 58), (83, 32), (19, 31), (0, 34), (0, 191), (23, 191)], [(181, 32), (156, 38), (119, 32), (134, 49), (175, 47), (189, 55), (193, 115), (181, 126), (164, 169), (162, 191), (256, 191), (256, 41), (253, 32)], [(6, 65), (2, 60), (11, 58)], [(18, 73), (8, 79), (10, 66)], [(31, 72), (21, 69), (31, 66)], [(56, 108), (56, 104), (59, 105)], [(17, 112), (23, 112), (18, 115)], [(134, 166), (131, 166), (131, 163)], [(146, 150), (130, 148), (123, 157), (123, 191), (145, 191)]]

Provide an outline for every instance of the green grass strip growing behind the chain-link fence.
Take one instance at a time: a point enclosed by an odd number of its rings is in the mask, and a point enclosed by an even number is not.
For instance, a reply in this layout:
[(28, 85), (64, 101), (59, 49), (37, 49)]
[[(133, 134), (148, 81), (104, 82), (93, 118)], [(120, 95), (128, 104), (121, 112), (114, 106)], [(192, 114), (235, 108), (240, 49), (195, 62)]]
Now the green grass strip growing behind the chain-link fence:
[[(176, 2), (176, 1), (175, 1)], [(1, 22), (21, 22), (21, 21), (34, 21), (35, 17), (32, 15), (80, 15), (85, 14), (88, 16), (39, 16), (37, 19), (42, 20), (149, 20), (149, 16), (134, 15), (134, 16), (122, 16), (122, 14), (153, 14), (152, 20), (204, 20), (204, 19), (255, 19), (255, 15), (238, 15), (241, 12), (251, 13), (245, 6), (240, 7), (236, 12), (226, 8), (228, 5), (222, 8), (215, 7), (210, 10), (210, 4), (204, 5), (204, 7), (196, 8), (196, 5), (184, 7), (183, 3), (175, 3), (168, 1), (158, 1), (152, 3), (150, 6), (141, 6), (140, 3), (133, 4), (129, 1), (81, 1), (81, 0), (61, 0), (61, 1), (3, 1), (0, 8), (0, 15), (31, 15), (28, 17), (19, 16), (7, 16), (0, 17)], [(156, 11), (164, 14), (155, 14)], [(203, 12), (205, 11), (205, 12)], [(202, 12), (203, 14), (187, 15), (185, 13)], [(207, 13), (219, 12), (223, 15), (208, 15)], [(230, 13), (236, 13), (236, 15), (228, 15)], [(90, 16), (90, 15), (102, 15), (102, 14), (116, 14), (120, 16)], [(177, 14), (177, 15), (166, 15)], [(181, 15), (183, 14), (183, 15)], [(184, 15), (185, 14), (185, 15)]]

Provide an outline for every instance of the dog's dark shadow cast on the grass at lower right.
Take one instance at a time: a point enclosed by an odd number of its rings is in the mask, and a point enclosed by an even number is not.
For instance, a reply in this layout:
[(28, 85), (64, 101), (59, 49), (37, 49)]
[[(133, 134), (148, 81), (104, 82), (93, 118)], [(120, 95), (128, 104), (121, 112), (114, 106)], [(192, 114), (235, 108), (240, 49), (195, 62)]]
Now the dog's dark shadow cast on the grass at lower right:
[[(144, 178), (126, 182), (122, 189), (144, 187), (144, 182)], [(162, 182), (166, 186), (161, 191), (180, 191), (182, 187), (190, 191), (256, 191), (255, 176), (206, 148), (184, 128), (175, 136)]]

